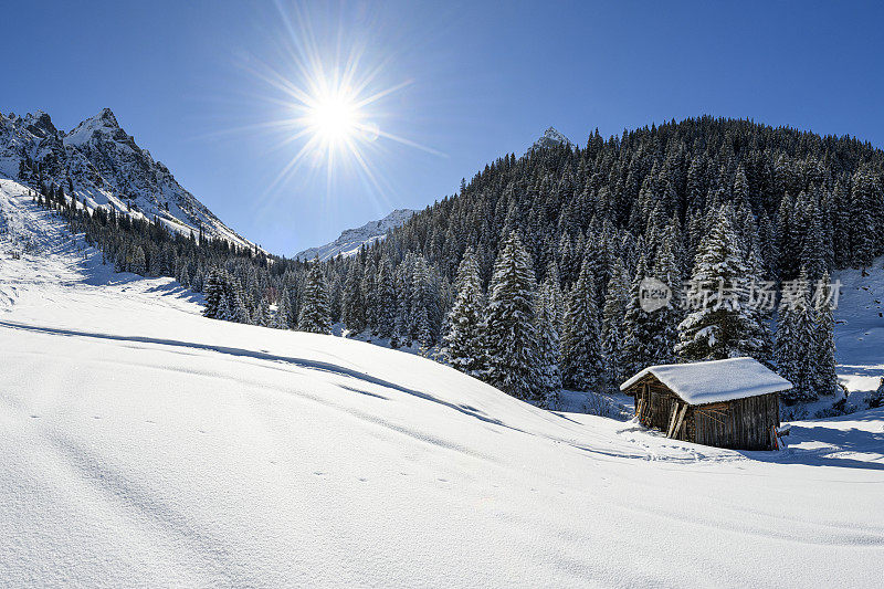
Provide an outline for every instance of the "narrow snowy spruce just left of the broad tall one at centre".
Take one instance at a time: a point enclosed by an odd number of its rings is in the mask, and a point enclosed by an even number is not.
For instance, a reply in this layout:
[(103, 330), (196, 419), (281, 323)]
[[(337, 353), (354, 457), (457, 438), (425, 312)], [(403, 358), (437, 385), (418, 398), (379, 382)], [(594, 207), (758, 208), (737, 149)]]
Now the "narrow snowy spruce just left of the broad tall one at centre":
[(478, 262), (467, 249), (457, 269), (457, 297), (448, 317), (444, 337), (448, 361), (472, 377), (481, 378), (485, 369), (484, 314), (485, 297), (478, 277)]

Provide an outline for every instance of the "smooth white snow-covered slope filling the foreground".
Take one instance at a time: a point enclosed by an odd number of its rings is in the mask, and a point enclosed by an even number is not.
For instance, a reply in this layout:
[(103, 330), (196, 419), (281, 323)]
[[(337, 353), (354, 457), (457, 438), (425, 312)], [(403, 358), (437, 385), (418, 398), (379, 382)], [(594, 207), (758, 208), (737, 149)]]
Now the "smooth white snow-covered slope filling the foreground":
[[(872, 587), (884, 410), (736, 452), (200, 316), (0, 181), (10, 587)], [(31, 253), (11, 257), (17, 243)]]

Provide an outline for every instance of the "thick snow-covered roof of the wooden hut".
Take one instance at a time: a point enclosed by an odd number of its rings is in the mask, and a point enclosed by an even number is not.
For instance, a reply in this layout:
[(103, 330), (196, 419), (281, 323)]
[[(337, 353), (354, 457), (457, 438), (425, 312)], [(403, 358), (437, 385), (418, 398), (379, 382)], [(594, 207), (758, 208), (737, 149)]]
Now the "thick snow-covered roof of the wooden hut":
[(792, 383), (753, 358), (728, 358), (692, 364), (649, 366), (620, 385), (627, 390), (646, 375), (653, 375), (672, 392), (691, 404), (732, 401), (757, 395), (781, 392)]

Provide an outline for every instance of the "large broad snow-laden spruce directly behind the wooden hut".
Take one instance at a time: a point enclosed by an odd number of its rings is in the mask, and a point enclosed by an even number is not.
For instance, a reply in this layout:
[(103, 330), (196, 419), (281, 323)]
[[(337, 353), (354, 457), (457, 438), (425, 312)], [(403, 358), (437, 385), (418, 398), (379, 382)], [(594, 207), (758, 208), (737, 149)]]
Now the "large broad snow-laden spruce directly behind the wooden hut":
[(734, 232), (729, 207), (722, 207), (712, 231), (703, 239), (694, 262), (685, 319), (678, 324), (675, 351), (684, 361), (750, 356), (766, 360), (767, 327), (746, 308), (750, 269)]

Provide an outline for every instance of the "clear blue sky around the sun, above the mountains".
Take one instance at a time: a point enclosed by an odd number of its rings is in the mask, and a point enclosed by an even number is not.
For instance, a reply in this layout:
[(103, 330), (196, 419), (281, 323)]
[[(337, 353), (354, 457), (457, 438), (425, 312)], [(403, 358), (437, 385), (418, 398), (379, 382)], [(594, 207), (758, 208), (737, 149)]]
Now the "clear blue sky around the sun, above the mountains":
[[(751, 117), (884, 146), (877, 2), (4, 2), (0, 112), (56, 126), (110, 107), (235, 230), (274, 253), (325, 243), (393, 208), (422, 208), (547, 127), (582, 144), (672, 118)], [(330, 8), (329, 8), (330, 7)], [(301, 17), (298, 17), (298, 13)], [(303, 85), (285, 48), (316, 36), (326, 65), (358, 46), (376, 90), (366, 161), (302, 166), (303, 140), (262, 125)], [(277, 102), (272, 102), (276, 99)], [(328, 172), (328, 173), (326, 173)], [(329, 181), (330, 178), (330, 181)]]

